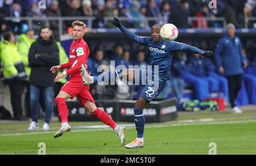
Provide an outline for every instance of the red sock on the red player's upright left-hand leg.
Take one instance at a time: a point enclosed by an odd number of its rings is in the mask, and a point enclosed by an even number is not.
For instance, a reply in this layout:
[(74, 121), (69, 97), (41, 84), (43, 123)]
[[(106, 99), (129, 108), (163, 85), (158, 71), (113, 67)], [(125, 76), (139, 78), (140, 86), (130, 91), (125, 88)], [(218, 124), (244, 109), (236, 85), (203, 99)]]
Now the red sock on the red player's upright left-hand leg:
[(68, 122), (68, 107), (67, 107), (67, 104), (65, 102), (65, 99), (63, 99), (61, 97), (56, 97), (55, 102), (56, 102), (57, 107), (58, 107), (61, 122), (62, 123), (63, 122)]

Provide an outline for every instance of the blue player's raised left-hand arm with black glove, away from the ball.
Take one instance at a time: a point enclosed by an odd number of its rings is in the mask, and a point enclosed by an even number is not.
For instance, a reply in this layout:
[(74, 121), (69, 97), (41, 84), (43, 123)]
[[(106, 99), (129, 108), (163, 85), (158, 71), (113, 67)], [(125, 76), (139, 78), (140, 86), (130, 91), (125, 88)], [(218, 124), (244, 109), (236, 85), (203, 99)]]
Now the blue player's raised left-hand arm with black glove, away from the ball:
[(122, 31), (122, 33), (131, 41), (137, 42), (138, 44), (141, 44), (141, 45), (147, 44), (146, 37), (135, 35), (135, 33), (129, 31), (127, 28), (125, 28), (121, 24), (121, 21), (118, 18), (114, 17), (112, 24), (114, 24), (116, 27), (118, 27)]

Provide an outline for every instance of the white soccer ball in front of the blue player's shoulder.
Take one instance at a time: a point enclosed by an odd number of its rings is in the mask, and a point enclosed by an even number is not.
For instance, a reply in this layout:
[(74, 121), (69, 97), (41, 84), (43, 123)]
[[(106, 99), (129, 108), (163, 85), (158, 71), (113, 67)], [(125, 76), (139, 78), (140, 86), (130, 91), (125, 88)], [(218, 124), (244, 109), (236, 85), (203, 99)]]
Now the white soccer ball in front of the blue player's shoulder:
[(179, 31), (174, 24), (164, 24), (160, 29), (160, 36), (165, 41), (174, 41), (178, 35)]

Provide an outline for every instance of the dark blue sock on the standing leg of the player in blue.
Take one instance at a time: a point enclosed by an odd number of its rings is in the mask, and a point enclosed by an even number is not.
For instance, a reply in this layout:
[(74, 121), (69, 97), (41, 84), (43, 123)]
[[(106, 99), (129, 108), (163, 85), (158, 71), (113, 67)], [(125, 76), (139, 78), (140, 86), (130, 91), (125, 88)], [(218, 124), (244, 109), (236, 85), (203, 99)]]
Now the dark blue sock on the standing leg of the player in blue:
[(135, 121), (136, 130), (137, 130), (137, 137), (143, 138), (144, 125), (145, 125), (143, 109), (134, 108), (134, 114), (135, 114), (134, 121)]

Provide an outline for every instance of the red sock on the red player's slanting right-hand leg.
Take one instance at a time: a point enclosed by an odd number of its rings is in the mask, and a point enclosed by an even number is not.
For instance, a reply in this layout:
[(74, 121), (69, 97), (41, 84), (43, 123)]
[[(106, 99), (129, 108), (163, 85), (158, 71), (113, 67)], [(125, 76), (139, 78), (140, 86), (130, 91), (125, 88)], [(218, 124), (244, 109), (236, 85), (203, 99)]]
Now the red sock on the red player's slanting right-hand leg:
[(115, 122), (112, 120), (112, 118), (110, 118), (110, 116), (106, 112), (104, 112), (103, 110), (100, 110), (100, 109), (97, 108), (90, 115), (97, 117), (100, 121), (104, 122), (104, 124), (109, 125), (110, 127), (112, 127), (112, 129), (115, 129), (115, 126), (117, 126), (117, 124), (115, 124)]

